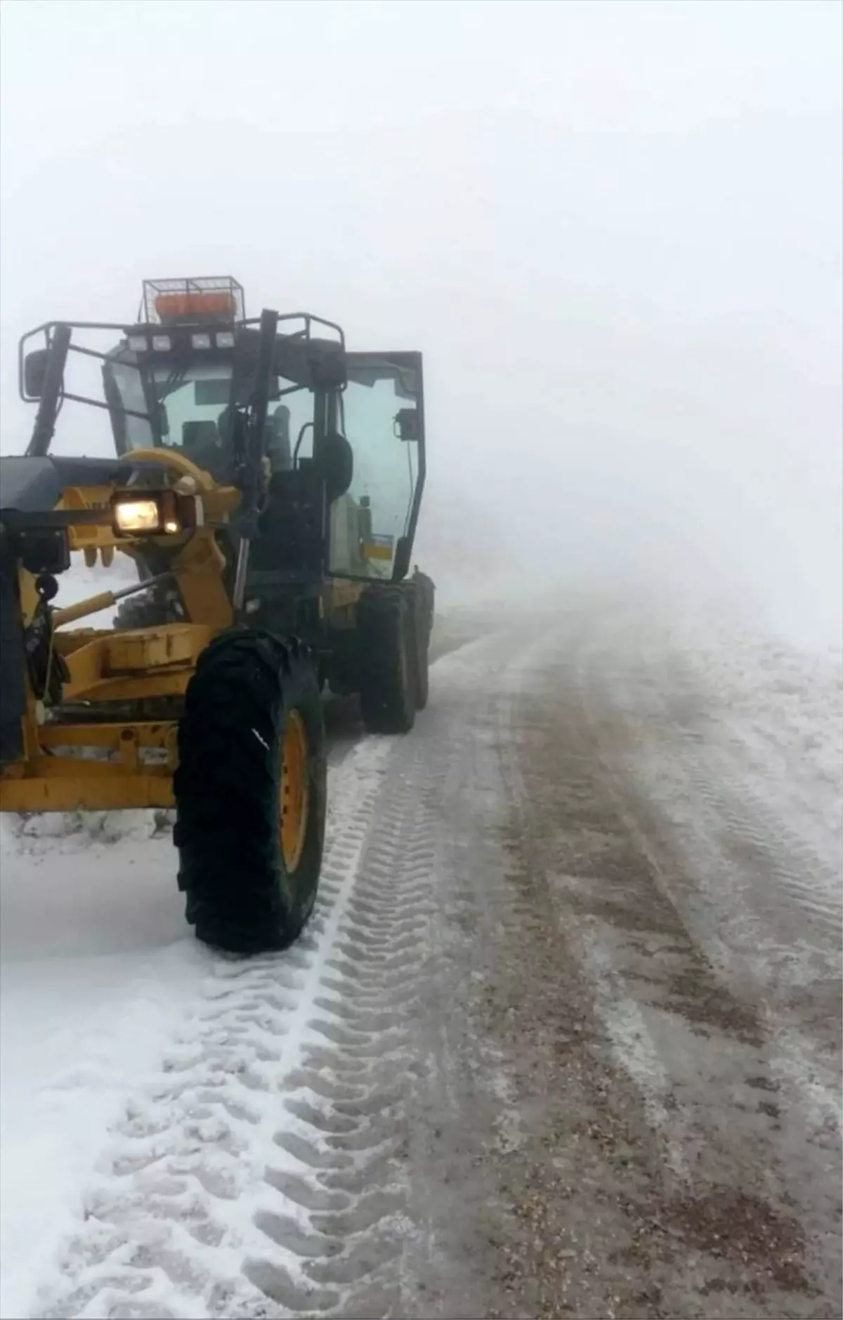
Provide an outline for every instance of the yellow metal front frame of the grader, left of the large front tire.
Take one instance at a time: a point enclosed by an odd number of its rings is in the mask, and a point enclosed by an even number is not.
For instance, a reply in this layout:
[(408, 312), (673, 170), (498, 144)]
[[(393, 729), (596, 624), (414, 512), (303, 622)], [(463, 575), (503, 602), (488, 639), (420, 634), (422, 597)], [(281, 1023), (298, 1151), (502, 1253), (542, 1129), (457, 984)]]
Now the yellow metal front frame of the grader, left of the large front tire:
[[(182, 454), (142, 450), (135, 461), (162, 459), (175, 479), (187, 478), (201, 502), (201, 524), (177, 537), (173, 579), (181, 591), (189, 619), (202, 623), (169, 623), (142, 630), (82, 628), (63, 631), (67, 623), (115, 603), (113, 593), (88, 597), (65, 610), (53, 611), (54, 653), (69, 671), (65, 701), (125, 702), (182, 696), (197, 660), (212, 636), (232, 623), (231, 601), (223, 583), (224, 557), (215, 528), (228, 521), (240, 502), (234, 487), (216, 486)], [(87, 564), (99, 558), (104, 566), (116, 549), (132, 556), (137, 539), (117, 536), (112, 525), (115, 488), (73, 487), (62, 492), (59, 508), (102, 511), (102, 521), (71, 525), (70, 549), (82, 550)], [(38, 603), (34, 578), (18, 572), (24, 624), (32, 622)], [(177, 722), (132, 721), (96, 723), (47, 723), (45, 709), (26, 677), (24, 759), (0, 770), (0, 812), (109, 810), (173, 805), (173, 771), (177, 759)], [(87, 759), (86, 752), (108, 752), (108, 759)]]

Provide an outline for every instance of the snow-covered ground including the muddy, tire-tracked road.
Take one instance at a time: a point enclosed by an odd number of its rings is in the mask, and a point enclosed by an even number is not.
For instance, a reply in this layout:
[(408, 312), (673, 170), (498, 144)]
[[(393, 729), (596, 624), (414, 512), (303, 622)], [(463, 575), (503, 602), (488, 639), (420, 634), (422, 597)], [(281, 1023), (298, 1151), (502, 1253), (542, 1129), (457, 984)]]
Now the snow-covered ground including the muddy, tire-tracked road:
[(839, 655), (493, 614), (334, 727), (285, 956), (4, 821), (3, 1316), (840, 1313)]

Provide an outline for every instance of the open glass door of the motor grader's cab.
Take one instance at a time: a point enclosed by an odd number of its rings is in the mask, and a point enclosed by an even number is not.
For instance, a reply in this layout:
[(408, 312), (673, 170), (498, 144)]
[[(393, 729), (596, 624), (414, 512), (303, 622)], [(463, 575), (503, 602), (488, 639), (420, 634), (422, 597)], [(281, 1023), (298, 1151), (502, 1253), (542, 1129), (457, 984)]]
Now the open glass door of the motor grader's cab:
[(406, 573), (425, 483), (420, 352), (348, 352), (348, 384), (328, 425), (350, 442), (354, 475), (330, 508), (328, 572), (397, 581)]

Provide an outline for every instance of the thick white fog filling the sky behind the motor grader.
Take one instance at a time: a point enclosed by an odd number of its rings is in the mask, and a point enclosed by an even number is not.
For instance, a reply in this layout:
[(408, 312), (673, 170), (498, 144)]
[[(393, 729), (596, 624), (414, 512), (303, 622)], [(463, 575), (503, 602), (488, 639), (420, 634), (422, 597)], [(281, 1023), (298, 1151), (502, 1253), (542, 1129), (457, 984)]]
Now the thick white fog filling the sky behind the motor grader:
[(842, 17), (4, 0), (3, 451), (25, 329), (232, 273), (252, 314), (423, 351), (441, 591), (678, 591), (839, 639)]

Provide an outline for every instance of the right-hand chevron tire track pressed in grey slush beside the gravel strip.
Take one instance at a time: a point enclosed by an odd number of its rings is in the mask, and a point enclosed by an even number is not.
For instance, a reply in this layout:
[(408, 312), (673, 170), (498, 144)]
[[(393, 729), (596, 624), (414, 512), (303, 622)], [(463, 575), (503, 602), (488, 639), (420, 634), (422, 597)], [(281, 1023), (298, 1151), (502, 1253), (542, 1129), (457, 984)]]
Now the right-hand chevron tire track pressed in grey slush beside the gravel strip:
[[(406, 744), (410, 746), (409, 743)], [(412, 756), (410, 756), (412, 760)], [(321, 1140), (282, 1131), (276, 1187), (310, 1214), (301, 1269), (342, 1298), (342, 1315), (388, 1315), (401, 1303), (401, 1255), (413, 1226), (405, 1172), (405, 1096), (418, 1073), (412, 1018), (430, 957), (431, 832), (412, 774), (392, 785), (322, 977), (311, 1040), (288, 1080), (289, 1113)], [(307, 1166), (302, 1177), (290, 1160)], [(286, 1225), (263, 1221), (278, 1242)], [(247, 1272), (284, 1302), (272, 1262)], [(289, 1303), (286, 1303), (289, 1305)]]

